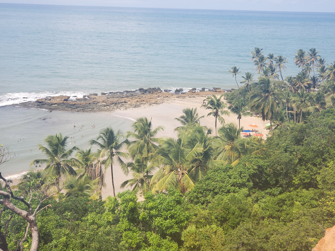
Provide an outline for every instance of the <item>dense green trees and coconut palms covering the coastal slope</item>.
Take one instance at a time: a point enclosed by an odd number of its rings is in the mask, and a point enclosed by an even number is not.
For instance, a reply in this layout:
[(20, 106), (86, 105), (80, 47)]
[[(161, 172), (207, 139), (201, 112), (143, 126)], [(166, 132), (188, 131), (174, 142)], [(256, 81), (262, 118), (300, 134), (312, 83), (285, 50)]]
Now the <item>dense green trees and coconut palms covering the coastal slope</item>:
[[(335, 62), (327, 67), (317, 53), (298, 50), (302, 71), (284, 81), (286, 58), (255, 48), (258, 80), (247, 72), (244, 86), (226, 95), (229, 105), (215, 95), (202, 105), (215, 136), (196, 108), (176, 118), (177, 138), (156, 138), (163, 128), (145, 117), (125, 136), (101, 131), (89, 142), (97, 151), (48, 136), (40, 145), (47, 158), (31, 162), (45, 170), (28, 172), (13, 193), (31, 205), (38, 250), (311, 250), (335, 224)], [(236, 79), (239, 68), (231, 73)], [(269, 120), (267, 140), (241, 137), (243, 128), (224, 123), (228, 111), (238, 121), (250, 112)], [(0, 164), (10, 159), (7, 148), (0, 153)], [(102, 201), (115, 161), (132, 191)], [(1, 248), (28, 250), (26, 220), (0, 204)]]

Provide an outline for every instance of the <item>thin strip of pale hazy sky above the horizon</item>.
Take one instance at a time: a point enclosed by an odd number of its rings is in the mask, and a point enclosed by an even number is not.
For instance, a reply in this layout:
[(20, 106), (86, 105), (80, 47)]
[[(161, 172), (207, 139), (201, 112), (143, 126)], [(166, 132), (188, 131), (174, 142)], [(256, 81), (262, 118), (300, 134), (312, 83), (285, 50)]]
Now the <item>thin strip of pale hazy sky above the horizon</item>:
[(335, 12), (335, 0), (0, 0), (2, 3)]

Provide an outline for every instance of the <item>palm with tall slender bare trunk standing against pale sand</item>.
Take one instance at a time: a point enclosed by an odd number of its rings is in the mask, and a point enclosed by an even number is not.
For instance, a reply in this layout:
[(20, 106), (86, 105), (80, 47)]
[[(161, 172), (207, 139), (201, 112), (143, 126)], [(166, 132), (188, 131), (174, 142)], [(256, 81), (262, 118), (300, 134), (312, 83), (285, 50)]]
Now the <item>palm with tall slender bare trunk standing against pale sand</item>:
[(128, 155), (124, 152), (122, 152), (123, 146), (128, 142), (127, 140), (120, 141), (121, 138), (123, 138), (123, 135), (121, 131), (119, 130), (117, 133), (114, 132), (114, 130), (110, 127), (107, 127), (100, 131), (99, 136), (96, 140), (91, 140), (91, 145), (96, 145), (101, 150), (101, 156), (105, 157), (103, 164), (105, 165), (105, 168), (108, 166), (111, 167), (111, 173), (112, 173), (112, 186), (113, 186), (113, 195), (115, 197), (115, 188), (114, 188), (114, 176), (113, 176), (113, 163), (114, 163), (114, 157), (117, 158), (117, 161), (119, 162), (122, 171), (127, 174), (128, 169), (125, 166), (124, 162), (122, 161), (121, 157), (127, 157)]

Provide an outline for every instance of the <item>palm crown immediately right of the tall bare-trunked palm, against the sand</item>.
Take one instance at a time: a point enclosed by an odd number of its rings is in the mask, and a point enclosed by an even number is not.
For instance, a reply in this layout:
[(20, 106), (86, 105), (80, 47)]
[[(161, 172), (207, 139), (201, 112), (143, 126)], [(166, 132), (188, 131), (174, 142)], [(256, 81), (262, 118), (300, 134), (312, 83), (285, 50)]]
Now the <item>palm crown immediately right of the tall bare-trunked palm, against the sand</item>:
[(147, 158), (150, 153), (157, 149), (158, 139), (155, 138), (159, 131), (163, 131), (163, 127), (159, 126), (152, 129), (151, 119), (140, 117), (132, 124), (134, 132), (127, 132), (126, 138), (133, 138), (134, 141), (128, 142), (129, 155), (135, 159), (137, 155)]

